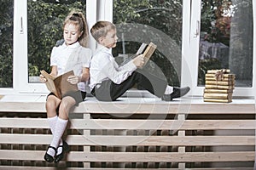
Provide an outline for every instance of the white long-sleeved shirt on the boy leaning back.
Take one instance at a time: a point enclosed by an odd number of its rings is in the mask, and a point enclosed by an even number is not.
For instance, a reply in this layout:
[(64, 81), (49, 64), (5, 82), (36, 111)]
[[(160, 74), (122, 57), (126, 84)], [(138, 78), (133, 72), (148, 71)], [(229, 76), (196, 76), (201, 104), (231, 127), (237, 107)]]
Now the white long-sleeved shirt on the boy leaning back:
[(137, 69), (131, 60), (123, 66), (119, 66), (113, 58), (111, 48), (106, 48), (97, 44), (96, 53), (93, 55), (90, 63), (90, 90), (97, 83), (110, 79), (116, 84), (124, 82), (131, 73)]

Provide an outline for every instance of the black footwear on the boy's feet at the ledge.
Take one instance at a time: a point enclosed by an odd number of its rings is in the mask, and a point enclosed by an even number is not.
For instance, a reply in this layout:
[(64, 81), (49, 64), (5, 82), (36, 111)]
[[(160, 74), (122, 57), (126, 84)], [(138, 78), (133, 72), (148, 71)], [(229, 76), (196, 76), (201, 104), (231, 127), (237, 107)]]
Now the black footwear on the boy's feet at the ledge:
[(172, 101), (174, 98), (180, 98), (183, 97), (185, 94), (189, 93), (190, 88), (184, 87), (184, 88), (177, 88), (173, 87), (172, 94), (164, 94), (161, 99), (165, 101)]

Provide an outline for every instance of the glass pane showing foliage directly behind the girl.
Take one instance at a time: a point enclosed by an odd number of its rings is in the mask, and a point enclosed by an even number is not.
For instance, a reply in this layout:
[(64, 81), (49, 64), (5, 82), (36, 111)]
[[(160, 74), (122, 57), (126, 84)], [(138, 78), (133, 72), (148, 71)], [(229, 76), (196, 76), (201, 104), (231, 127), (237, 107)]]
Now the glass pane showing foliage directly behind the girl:
[(28, 74), (29, 82), (38, 82), (39, 71), (50, 71), (51, 49), (63, 37), (62, 23), (77, 9), (85, 15), (85, 0), (28, 0)]

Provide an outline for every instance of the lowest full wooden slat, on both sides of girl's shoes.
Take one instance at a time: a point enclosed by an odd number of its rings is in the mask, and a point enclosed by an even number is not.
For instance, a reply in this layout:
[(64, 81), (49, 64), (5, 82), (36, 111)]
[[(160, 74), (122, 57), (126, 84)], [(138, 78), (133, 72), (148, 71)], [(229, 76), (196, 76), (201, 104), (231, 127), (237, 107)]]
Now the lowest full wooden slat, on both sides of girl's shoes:
[[(44, 150), (0, 150), (0, 160), (43, 161)], [(105, 162), (213, 162), (254, 161), (254, 151), (230, 152), (90, 152), (71, 151), (66, 161)]]

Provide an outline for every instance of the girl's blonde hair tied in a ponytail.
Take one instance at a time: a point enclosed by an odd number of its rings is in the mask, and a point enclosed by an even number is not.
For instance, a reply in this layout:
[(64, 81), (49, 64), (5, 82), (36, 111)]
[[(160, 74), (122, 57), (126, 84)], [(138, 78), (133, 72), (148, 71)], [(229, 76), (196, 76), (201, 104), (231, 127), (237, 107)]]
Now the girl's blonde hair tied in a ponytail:
[(87, 47), (89, 32), (84, 14), (78, 11), (72, 11), (64, 20), (63, 29), (67, 24), (79, 26), (79, 32), (82, 32), (82, 35), (79, 37), (79, 43), (81, 46)]

